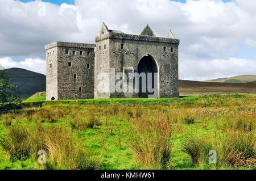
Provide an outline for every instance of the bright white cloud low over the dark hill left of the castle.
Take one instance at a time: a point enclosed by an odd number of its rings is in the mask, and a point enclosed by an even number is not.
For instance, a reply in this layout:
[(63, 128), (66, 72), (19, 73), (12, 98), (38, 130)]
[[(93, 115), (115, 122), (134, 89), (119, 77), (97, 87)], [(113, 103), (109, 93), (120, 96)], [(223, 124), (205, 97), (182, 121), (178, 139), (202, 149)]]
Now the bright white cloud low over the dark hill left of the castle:
[(5, 69), (21, 68), (46, 74), (46, 61), (41, 58), (26, 58), (24, 61), (14, 61), (11, 57), (0, 58), (0, 64)]

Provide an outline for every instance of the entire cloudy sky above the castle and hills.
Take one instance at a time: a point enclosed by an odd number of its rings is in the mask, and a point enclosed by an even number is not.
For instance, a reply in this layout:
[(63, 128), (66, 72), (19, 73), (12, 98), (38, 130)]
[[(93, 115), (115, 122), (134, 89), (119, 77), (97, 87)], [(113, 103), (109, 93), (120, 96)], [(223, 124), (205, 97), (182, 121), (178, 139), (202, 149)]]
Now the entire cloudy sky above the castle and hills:
[(102, 22), (180, 39), (179, 78), (256, 74), (255, 0), (1, 0), (0, 64), (46, 74), (44, 45), (94, 43)]

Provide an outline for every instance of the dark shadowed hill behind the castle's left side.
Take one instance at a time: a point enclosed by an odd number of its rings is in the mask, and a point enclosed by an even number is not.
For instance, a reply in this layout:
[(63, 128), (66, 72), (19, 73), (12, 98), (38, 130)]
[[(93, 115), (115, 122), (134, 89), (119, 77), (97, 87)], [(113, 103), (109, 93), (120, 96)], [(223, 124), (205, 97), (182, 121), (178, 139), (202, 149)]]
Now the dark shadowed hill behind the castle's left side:
[(6, 74), (18, 86), (17, 95), (33, 95), (36, 92), (46, 91), (46, 75), (35, 73), (26, 69), (6, 69)]

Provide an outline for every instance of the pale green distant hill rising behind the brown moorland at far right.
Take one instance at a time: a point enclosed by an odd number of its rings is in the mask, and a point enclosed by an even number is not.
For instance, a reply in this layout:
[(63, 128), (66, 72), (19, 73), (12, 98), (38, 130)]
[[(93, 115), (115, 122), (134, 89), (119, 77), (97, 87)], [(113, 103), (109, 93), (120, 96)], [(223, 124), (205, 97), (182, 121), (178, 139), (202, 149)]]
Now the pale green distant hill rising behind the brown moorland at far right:
[(229, 78), (218, 78), (204, 82), (246, 83), (256, 81), (256, 75), (238, 75)]

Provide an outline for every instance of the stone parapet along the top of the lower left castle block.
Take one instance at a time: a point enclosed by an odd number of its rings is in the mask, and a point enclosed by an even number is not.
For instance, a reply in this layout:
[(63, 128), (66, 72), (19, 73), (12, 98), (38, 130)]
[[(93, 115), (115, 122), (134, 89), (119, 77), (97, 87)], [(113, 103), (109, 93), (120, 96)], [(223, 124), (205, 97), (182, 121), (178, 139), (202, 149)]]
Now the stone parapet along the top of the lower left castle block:
[(46, 45), (44, 48), (46, 50), (48, 50), (48, 49), (52, 49), (55, 47), (94, 49), (95, 44), (68, 43), (68, 42), (63, 42), (63, 41), (55, 41), (51, 44)]

